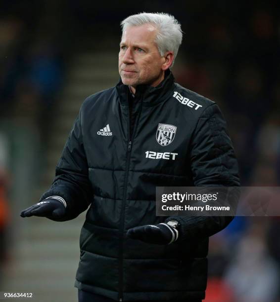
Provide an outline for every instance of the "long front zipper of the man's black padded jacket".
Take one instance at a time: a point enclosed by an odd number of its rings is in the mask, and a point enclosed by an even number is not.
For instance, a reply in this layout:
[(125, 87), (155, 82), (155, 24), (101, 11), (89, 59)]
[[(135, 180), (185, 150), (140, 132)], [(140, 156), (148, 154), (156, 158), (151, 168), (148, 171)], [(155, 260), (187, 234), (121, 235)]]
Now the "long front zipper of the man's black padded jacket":
[[(141, 100), (140, 100), (141, 102)], [(130, 156), (131, 156), (131, 146), (132, 141), (135, 135), (135, 131), (137, 129), (137, 125), (140, 119), (140, 113), (142, 109), (142, 102), (140, 103), (139, 113), (135, 121), (135, 125), (133, 128), (132, 137), (130, 138), (130, 113), (129, 113), (129, 120), (128, 120), (128, 147), (127, 147), (127, 157), (126, 157), (126, 174), (125, 174), (125, 184), (124, 184), (124, 195), (122, 201), (122, 209), (121, 209), (121, 233), (120, 233), (120, 266), (119, 266), (119, 302), (123, 301), (123, 238), (124, 238), (124, 222), (125, 222), (125, 203), (126, 203), (126, 193), (127, 193), (127, 183), (128, 183), (128, 173), (129, 173), (129, 166), (130, 166)]]

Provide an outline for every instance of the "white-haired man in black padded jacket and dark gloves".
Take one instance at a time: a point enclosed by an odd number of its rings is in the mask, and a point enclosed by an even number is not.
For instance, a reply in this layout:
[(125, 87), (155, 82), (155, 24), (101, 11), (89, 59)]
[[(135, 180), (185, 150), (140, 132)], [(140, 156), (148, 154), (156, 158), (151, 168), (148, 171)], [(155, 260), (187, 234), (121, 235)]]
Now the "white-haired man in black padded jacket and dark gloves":
[(174, 82), (181, 26), (168, 14), (122, 21), (121, 79), (83, 103), (38, 204), (22, 217), (74, 219), (88, 206), (79, 301), (201, 301), (208, 237), (232, 217), (156, 217), (156, 186), (239, 186), (218, 106)]

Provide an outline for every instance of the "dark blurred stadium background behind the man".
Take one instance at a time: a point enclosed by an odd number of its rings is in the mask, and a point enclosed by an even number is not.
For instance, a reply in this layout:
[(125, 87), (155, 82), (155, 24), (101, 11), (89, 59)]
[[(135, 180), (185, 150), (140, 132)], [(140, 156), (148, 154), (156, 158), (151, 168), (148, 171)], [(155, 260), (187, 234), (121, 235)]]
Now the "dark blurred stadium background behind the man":
[[(74, 302), (85, 213), (23, 219), (50, 186), (83, 100), (119, 79), (120, 21), (182, 24), (176, 81), (218, 103), (242, 186), (280, 185), (278, 1), (3, 0), (0, 3), (0, 291)], [(210, 238), (207, 302), (280, 301), (280, 218), (236, 217)]]

